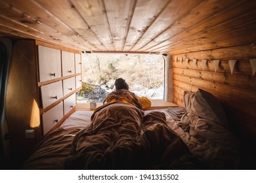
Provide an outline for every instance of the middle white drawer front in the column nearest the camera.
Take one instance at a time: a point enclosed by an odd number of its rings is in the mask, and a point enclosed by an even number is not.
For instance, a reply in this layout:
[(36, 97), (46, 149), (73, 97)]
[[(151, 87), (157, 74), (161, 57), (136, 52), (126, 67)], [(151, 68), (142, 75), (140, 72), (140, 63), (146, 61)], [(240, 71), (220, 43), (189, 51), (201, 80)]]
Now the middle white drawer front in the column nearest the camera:
[(41, 95), (43, 108), (46, 108), (52, 103), (58, 101), (58, 99), (63, 97), (62, 81), (41, 86)]

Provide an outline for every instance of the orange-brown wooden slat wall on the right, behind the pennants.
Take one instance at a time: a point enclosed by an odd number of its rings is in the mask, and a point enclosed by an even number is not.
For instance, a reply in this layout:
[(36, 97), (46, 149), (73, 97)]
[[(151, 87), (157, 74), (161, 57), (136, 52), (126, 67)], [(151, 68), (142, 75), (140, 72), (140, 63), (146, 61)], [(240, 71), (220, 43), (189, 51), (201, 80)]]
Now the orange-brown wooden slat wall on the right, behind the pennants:
[[(249, 62), (253, 58), (256, 58), (254, 44), (173, 54), (174, 102), (184, 106), (184, 91), (196, 92), (202, 88), (215, 95), (226, 108), (231, 126), (239, 127), (244, 131), (241, 134), (256, 142), (256, 75), (252, 76)], [(193, 59), (197, 59), (196, 65)], [(204, 69), (202, 59), (207, 59)], [(238, 60), (232, 74), (229, 59)], [(216, 72), (213, 60), (220, 60)]]

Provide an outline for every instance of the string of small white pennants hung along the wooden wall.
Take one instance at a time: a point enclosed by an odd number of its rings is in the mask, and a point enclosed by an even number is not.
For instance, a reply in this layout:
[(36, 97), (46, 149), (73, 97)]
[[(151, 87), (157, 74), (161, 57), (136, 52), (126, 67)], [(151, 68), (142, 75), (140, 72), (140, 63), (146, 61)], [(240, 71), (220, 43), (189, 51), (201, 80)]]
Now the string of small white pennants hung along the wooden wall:
[[(177, 61), (178, 57), (175, 56), (175, 62)], [(188, 65), (188, 58), (185, 59), (185, 63), (186, 63), (186, 66)], [(182, 63), (183, 61), (183, 58), (179, 58), (179, 61)], [(198, 59), (193, 59), (193, 65), (196, 66), (196, 62), (198, 61)], [(219, 59), (217, 60), (213, 60), (213, 66), (214, 66), (214, 71), (216, 73), (217, 71), (217, 68), (218, 68), (218, 65), (219, 65)], [(233, 74), (233, 71), (234, 71), (234, 66), (236, 65), (236, 61), (238, 61), (237, 59), (230, 59), (228, 60), (228, 64), (229, 64), (229, 67), (230, 67), (230, 71), (231, 71), (231, 75)], [(250, 63), (251, 63), (251, 70), (252, 70), (252, 76), (256, 73), (256, 59), (249, 59)], [(207, 64), (207, 59), (202, 59), (202, 69), (204, 71), (205, 67), (206, 67), (206, 64)]]

